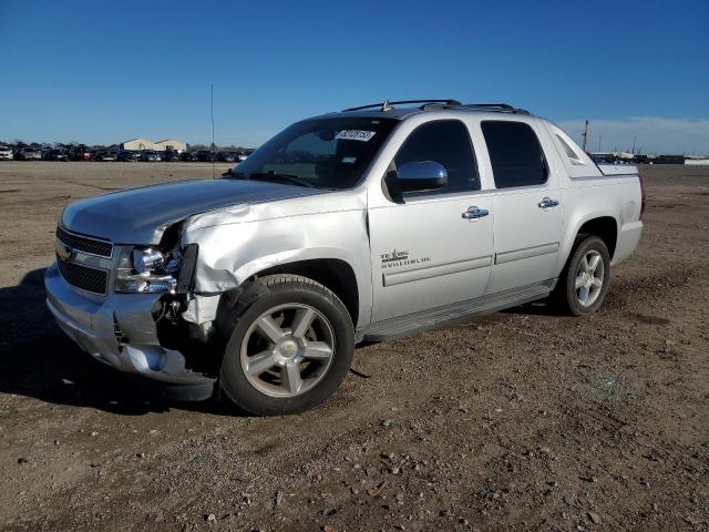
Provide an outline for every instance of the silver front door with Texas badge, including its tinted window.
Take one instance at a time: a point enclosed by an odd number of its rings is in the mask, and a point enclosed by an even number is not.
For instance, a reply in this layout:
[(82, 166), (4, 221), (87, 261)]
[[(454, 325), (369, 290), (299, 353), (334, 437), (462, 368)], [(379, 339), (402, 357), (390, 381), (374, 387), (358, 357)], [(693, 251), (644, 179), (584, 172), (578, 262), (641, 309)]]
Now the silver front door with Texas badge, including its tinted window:
[(458, 120), (427, 122), (404, 141), (392, 170), (434, 161), (445, 188), (369, 209), (372, 323), (484, 294), (493, 259), (493, 208), (481, 193), (470, 134)]

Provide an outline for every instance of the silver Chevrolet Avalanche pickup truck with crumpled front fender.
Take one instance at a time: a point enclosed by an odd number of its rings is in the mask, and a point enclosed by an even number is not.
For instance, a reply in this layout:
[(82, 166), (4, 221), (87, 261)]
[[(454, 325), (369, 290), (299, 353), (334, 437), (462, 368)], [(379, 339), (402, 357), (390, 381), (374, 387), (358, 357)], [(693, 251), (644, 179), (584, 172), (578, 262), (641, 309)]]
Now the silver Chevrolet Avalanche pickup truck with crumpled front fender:
[(359, 342), (549, 296), (596, 311), (644, 204), (634, 166), (524, 110), (378, 103), (297, 122), (219, 180), (69, 205), (48, 305), (120, 370), (297, 412)]

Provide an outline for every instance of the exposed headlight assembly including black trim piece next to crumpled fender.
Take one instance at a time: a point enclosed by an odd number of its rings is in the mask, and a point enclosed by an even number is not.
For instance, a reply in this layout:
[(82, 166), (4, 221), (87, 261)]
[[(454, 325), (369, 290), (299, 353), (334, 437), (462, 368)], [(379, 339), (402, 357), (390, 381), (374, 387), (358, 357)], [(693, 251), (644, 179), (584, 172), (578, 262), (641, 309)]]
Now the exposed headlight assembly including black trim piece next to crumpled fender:
[(197, 245), (164, 253), (157, 247), (124, 247), (119, 257), (115, 291), (124, 294), (177, 294), (189, 290)]

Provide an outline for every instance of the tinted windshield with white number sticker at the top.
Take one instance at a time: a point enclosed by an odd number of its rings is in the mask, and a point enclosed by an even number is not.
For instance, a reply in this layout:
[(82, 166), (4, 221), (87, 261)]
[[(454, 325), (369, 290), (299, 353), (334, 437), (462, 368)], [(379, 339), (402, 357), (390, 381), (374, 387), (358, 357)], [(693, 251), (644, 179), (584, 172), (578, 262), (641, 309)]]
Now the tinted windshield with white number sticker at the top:
[(290, 176), (318, 188), (357, 185), (397, 124), (392, 119), (320, 119), (284, 130), (239, 163), (244, 178)]

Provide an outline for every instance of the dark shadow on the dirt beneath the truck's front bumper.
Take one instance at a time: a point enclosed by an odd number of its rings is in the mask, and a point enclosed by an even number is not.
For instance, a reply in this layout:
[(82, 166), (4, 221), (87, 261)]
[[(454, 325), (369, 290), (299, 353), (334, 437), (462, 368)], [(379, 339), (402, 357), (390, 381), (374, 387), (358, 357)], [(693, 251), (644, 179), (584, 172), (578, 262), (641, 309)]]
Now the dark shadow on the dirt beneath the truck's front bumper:
[[(179, 408), (238, 415), (226, 401), (181, 402), (160, 397), (153, 382), (113, 370), (83, 352), (54, 323), (44, 301), (44, 268), (0, 288), (0, 393), (58, 405), (140, 416)], [(136, 382), (138, 381), (138, 382)], [(136, 386), (137, 385), (137, 386)]]

